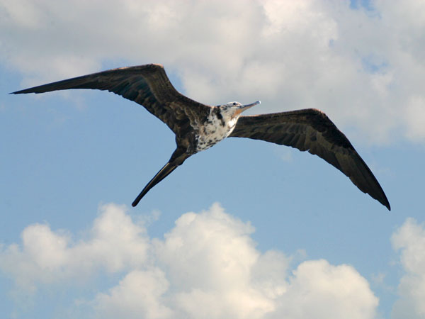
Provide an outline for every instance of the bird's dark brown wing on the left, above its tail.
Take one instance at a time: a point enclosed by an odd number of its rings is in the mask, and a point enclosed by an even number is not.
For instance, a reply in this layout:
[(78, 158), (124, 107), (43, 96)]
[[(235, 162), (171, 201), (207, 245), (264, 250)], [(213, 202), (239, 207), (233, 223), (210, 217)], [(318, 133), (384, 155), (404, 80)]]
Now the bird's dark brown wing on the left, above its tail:
[(66, 89), (108, 90), (147, 108), (171, 128), (176, 135), (199, 122), (210, 111), (210, 106), (198, 103), (179, 93), (166, 76), (162, 65), (121, 67), (108, 71), (65, 79), (13, 92), (44, 93)]

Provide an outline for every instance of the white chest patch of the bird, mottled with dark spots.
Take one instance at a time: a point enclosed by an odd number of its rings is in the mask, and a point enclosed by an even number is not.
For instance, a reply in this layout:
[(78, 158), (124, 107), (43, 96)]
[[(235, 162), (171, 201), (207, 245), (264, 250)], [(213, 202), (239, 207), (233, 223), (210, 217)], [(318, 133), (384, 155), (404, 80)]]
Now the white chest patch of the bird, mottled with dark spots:
[(232, 133), (236, 125), (237, 118), (232, 118), (226, 121), (225, 118), (219, 118), (216, 114), (210, 113), (208, 121), (201, 128), (198, 137), (196, 138), (196, 152), (207, 150), (212, 145), (217, 144), (220, 140), (224, 140)]

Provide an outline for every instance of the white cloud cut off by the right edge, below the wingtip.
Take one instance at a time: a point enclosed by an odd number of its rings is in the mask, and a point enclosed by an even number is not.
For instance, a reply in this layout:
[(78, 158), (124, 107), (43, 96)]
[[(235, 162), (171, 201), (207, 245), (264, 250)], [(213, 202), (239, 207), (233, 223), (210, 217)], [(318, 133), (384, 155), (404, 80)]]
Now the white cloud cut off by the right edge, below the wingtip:
[(425, 225), (407, 218), (392, 235), (392, 246), (399, 250), (404, 275), (398, 287), (399, 300), (393, 318), (425, 317)]

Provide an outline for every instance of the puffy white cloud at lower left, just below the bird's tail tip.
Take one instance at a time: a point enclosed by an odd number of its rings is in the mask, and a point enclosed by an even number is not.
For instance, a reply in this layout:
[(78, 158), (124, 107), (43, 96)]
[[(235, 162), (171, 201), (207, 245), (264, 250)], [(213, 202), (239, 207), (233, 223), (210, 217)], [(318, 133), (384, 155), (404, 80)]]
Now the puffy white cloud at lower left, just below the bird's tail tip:
[(88, 240), (72, 242), (64, 231), (34, 224), (22, 232), (22, 245), (1, 250), (0, 269), (21, 289), (39, 284), (84, 282), (98, 270), (118, 272), (147, 262), (145, 228), (132, 223), (124, 206), (101, 206)]

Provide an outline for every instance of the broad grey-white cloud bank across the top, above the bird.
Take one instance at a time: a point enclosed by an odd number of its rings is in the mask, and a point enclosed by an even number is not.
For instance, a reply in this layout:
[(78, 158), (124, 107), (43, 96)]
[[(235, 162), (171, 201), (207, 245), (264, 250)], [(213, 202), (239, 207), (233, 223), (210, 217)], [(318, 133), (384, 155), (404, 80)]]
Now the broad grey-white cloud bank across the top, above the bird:
[(414, 0), (3, 1), (0, 57), (23, 86), (158, 62), (205, 103), (320, 108), (370, 142), (423, 141), (421, 12)]

